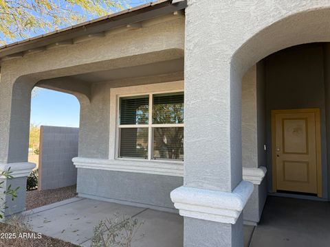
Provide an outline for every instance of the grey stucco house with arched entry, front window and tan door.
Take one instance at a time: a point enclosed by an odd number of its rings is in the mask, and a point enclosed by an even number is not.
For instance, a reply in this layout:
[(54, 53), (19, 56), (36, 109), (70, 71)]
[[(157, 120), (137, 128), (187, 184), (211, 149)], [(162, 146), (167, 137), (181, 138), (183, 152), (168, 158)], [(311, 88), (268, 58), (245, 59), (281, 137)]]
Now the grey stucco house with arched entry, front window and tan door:
[(0, 168), (23, 211), (34, 86), (80, 102), (78, 196), (243, 246), (267, 194), (329, 200), (330, 1), (157, 1), (1, 47)]

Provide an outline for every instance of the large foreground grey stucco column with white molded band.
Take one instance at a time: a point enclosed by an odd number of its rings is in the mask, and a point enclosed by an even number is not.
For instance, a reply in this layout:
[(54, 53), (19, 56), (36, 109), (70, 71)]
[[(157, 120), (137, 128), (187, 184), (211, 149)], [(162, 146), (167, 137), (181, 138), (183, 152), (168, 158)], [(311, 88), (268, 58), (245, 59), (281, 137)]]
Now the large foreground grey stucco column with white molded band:
[(241, 78), (216, 1), (188, 0), (185, 44), (184, 186), (171, 198), (184, 216), (184, 246), (243, 246)]

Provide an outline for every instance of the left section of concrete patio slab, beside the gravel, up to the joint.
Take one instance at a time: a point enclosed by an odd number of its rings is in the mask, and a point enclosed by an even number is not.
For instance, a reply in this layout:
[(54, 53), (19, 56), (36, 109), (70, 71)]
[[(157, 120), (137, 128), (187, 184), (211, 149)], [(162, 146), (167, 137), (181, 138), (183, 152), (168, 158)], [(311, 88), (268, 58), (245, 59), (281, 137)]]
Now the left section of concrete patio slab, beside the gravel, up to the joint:
[(114, 217), (115, 213), (132, 217), (143, 210), (139, 207), (83, 199), (26, 217), (33, 231), (80, 245), (92, 237), (94, 226), (104, 217)]

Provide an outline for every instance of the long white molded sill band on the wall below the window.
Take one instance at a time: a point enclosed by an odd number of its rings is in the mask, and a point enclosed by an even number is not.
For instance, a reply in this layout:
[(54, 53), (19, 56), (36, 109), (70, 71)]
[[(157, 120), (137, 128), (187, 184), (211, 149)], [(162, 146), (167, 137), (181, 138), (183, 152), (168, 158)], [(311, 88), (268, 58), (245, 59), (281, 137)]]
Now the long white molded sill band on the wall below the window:
[(76, 168), (102, 169), (117, 172), (136, 172), (143, 174), (157, 174), (164, 176), (184, 176), (182, 161), (148, 161), (130, 158), (103, 159), (76, 157), (72, 161)]

